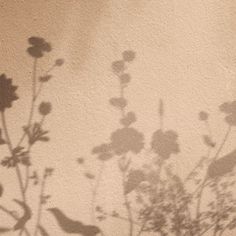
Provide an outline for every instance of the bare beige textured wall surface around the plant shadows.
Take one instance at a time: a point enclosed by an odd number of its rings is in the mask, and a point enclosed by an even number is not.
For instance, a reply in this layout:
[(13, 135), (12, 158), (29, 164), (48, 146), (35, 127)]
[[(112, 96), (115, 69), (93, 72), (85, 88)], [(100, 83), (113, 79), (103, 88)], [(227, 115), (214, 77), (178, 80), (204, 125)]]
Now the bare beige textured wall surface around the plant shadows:
[[(217, 140), (226, 129), (218, 106), (235, 99), (235, 22), (234, 0), (0, 0), (0, 73), (14, 79), (20, 95), (7, 112), (13, 142), (20, 137), (30, 102), (32, 59), (25, 53), (27, 38), (41, 36), (53, 45), (40, 64), (42, 70), (55, 58), (66, 61), (42, 97), (53, 104), (46, 122), (51, 142), (34, 149), (38, 169), (56, 169), (47, 189), (52, 194), (48, 205), (60, 205), (71, 217), (90, 222), (90, 185), (76, 159), (87, 157), (96, 169), (91, 148), (106, 141), (118, 125), (118, 113), (108, 105), (108, 99), (118, 94), (110, 64), (126, 49), (137, 53), (126, 92), (129, 108), (138, 116), (136, 127), (150, 137), (158, 126), (162, 98), (165, 126), (180, 135), (182, 152), (173, 164), (185, 176), (206, 152), (198, 112), (211, 113)], [(235, 138), (234, 132), (225, 151)], [(1, 153), (5, 151), (2, 148)], [(107, 193), (102, 199), (112, 209), (119, 206), (116, 196), (121, 190), (114, 165), (108, 166), (101, 191)], [(8, 186), (1, 201), (10, 201), (18, 191), (15, 173), (1, 168), (0, 177)], [(34, 190), (31, 195), (35, 201)], [(0, 219), (9, 223), (1, 215)], [(52, 235), (64, 235), (47, 213), (43, 222), (50, 222)], [(103, 226), (114, 232), (110, 236), (122, 236), (126, 229), (121, 224), (109, 221)]]

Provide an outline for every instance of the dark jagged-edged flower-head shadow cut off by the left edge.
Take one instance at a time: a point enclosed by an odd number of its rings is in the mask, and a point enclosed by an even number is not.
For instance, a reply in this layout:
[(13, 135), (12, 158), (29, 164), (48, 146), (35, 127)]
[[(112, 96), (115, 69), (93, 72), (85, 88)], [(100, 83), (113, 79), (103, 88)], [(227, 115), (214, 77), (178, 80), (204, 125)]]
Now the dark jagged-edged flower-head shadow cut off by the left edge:
[(0, 111), (12, 106), (12, 102), (18, 99), (16, 95), (17, 86), (12, 85), (12, 79), (5, 74), (0, 75)]

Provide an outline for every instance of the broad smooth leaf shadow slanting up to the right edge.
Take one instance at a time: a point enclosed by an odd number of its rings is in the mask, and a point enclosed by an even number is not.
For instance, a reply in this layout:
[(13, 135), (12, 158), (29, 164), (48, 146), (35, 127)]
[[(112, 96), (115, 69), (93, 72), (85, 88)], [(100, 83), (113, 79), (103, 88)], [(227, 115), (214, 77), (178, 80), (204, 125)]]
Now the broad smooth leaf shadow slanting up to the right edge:
[(236, 149), (231, 153), (225, 155), (224, 157), (219, 158), (214, 161), (208, 167), (208, 177), (209, 178), (217, 178), (222, 177), (231, 171), (233, 171), (236, 166)]

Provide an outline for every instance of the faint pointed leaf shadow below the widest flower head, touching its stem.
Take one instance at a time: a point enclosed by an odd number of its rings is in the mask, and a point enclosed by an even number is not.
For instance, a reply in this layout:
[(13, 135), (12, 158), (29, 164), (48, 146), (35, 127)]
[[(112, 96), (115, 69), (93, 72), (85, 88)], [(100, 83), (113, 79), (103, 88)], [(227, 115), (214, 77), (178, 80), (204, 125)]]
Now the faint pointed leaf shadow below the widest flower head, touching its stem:
[(132, 170), (129, 175), (128, 179), (125, 183), (125, 194), (129, 194), (133, 190), (135, 190), (139, 184), (146, 180), (146, 177), (141, 170)]

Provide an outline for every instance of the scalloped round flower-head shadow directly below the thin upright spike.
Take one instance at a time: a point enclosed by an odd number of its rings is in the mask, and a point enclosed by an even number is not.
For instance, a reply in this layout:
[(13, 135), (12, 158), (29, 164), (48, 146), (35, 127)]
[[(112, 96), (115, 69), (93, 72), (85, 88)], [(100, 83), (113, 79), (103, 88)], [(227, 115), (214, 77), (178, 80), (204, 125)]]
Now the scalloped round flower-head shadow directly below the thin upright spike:
[(163, 159), (168, 159), (171, 154), (179, 152), (177, 138), (178, 135), (172, 130), (166, 132), (157, 130), (152, 136), (151, 147), (153, 151), (159, 154)]

